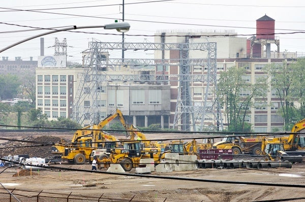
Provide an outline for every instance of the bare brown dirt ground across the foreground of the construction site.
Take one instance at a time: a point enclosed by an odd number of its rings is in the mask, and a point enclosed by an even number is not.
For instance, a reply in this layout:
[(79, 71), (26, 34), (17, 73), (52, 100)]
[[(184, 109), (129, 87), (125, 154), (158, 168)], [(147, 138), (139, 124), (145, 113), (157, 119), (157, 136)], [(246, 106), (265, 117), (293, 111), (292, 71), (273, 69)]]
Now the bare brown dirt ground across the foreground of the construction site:
[[(290, 200), (285, 201), (305, 201), (305, 188), (276, 186), (283, 184), (304, 186), (305, 163), (303, 162), (293, 164), (292, 169), (282, 167), (259, 170), (198, 169), (149, 174), (150, 176), (181, 178), (178, 180), (145, 177), (144, 174), (139, 176), (116, 175), (107, 173), (107, 169), (90, 172), (90, 164), (54, 164), (52, 166), (56, 166), (58, 169), (32, 171), (31, 176), (22, 175), (20, 169), (16, 167), (8, 169), (6, 166), (0, 167), (0, 183), (10, 190), (15, 189), (14, 192), (25, 190), (29, 195), (36, 195), (41, 191), (43, 195), (76, 194), (97, 199), (106, 196), (120, 198), (115, 201), (277, 201), (288, 198)], [(75, 170), (64, 171), (60, 170), (60, 167)], [(4, 169), (6, 170), (4, 171)], [(20, 175), (13, 177), (17, 173)], [(128, 173), (135, 174), (135, 169)], [(247, 182), (275, 185), (249, 185)]]

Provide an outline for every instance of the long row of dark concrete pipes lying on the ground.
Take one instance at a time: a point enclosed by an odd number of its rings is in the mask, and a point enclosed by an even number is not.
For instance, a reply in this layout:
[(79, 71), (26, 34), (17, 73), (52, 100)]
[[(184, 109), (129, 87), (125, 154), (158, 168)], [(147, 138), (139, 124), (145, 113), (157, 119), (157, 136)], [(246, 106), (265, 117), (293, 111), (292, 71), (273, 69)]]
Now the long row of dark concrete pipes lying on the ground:
[(292, 168), (289, 161), (254, 161), (254, 160), (214, 160), (201, 159), (197, 160), (198, 169), (271, 169), (275, 167)]

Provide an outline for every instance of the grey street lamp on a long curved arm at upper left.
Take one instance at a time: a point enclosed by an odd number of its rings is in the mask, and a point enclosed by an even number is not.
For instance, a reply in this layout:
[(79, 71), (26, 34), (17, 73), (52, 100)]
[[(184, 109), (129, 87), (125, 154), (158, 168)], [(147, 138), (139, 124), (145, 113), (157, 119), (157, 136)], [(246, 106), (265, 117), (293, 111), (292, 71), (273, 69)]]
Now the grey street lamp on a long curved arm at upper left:
[(115, 23), (105, 24), (105, 25), (92, 25), (92, 26), (79, 26), (79, 27), (74, 25), (72, 27), (56, 29), (56, 30), (45, 32), (45, 33), (41, 33), (40, 35), (29, 37), (27, 39), (24, 39), (22, 41), (14, 43), (14, 44), (12, 44), (10, 46), (7, 46), (7, 47), (1, 49), (0, 53), (2, 53), (3, 51), (5, 51), (5, 50), (7, 50), (9, 48), (12, 48), (12, 47), (18, 45), (18, 44), (21, 44), (23, 42), (26, 42), (26, 41), (29, 41), (29, 40), (32, 40), (32, 39), (35, 39), (35, 38), (38, 38), (38, 37), (41, 37), (41, 36), (49, 35), (50, 33), (55, 33), (55, 32), (59, 32), (59, 31), (67, 31), (67, 30), (72, 30), (72, 29), (99, 28), (99, 27), (103, 27), (104, 29), (116, 29), (119, 32), (126, 32), (126, 31), (129, 30), (130, 24), (128, 22), (115, 22)]

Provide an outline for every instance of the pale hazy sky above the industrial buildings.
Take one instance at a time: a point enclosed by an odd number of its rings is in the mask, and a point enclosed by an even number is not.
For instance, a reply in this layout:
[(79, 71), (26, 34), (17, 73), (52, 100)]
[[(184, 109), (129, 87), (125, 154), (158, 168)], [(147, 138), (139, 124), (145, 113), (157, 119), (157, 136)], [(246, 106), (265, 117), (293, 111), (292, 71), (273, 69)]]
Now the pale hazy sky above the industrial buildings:
[[(125, 0), (125, 21), (131, 24), (125, 34), (126, 42), (154, 42), (157, 30), (235, 30), (240, 37), (249, 38), (256, 33), (256, 20), (265, 14), (275, 19), (276, 36), (280, 50), (305, 53), (305, 1), (143, 1)], [(64, 26), (104, 25), (121, 21), (123, 0), (53, 0), (53, 1), (2, 1), (0, 9), (0, 49), (48, 30)], [(25, 11), (27, 10), (27, 11)], [(24, 31), (27, 30), (27, 31)], [(101, 28), (78, 29), (87, 33), (57, 32), (44, 36), (45, 55), (53, 55), (55, 38), (67, 39), (68, 61), (81, 61), (81, 52), (88, 42), (120, 42), (115, 30)], [(95, 32), (95, 33), (89, 33)], [(301, 32), (301, 33), (292, 33)], [(106, 35), (107, 33), (118, 35)], [(138, 35), (138, 36), (135, 36)], [(17, 45), (0, 53), (14, 60), (21, 57), (37, 60), (40, 55), (40, 38)], [(120, 58), (119, 53), (110, 55)], [(126, 52), (125, 57), (135, 58), (137, 53)], [(147, 55), (147, 57), (149, 57)], [(151, 57), (151, 56), (150, 56)]]

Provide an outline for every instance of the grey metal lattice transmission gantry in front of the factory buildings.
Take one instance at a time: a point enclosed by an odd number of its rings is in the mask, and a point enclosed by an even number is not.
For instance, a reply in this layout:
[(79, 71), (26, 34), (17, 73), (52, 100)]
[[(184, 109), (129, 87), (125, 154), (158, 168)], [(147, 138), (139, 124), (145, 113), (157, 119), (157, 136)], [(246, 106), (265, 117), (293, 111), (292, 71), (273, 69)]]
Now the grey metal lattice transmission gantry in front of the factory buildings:
[[(154, 84), (169, 84), (172, 81), (178, 81), (179, 86), (178, 90), (178, 100), (175, 112), (175, 121), (173, 123), (174, 126), (179, 125), (181, 127), (181, 115), (183, 114), (184, 118), (182, 118), (182, 128), (190, 130), (189, 127), (190, 121), (189, 117), (192, 114), (192, 123), (194, 124), (194, 120), (203, 119), (201, 121), (203, 128), (204, 126), (204, 112), (209, 112), (212, 109), (205, 110), (204, 105), (201, 106), (193, 106), (191, 95), (190, 95), (190, 82), (201, 82), (206, 83), (210, 82), (207, 75), (203, 74), (190, 74), (190, 65), (198, 65), (198, 66), (206, 66), (208, 64), (208, 58), (189, 58), (188, 51), (189, 50), (208, 50), (210, 44), (213, 43), (124, 43), (125, 50), (178, 50), (180, 52), (180, 58), (178, 59), (170, 59), (170, 58), (160, 58), (160, 59), (129, 59), (124, 58), (122, 61), (121, 58), (105, 58), (102, 56), (107, 50), (121, 50), (123, 48), (123, 43), (109, 43), (109, 42), (90, 42), (89, 49), (84, 58), (84, 71), (80, 78), (80, 84), (77, 89), (77, 93), (75, 96), (75, 102), (73, 104), (72, 109), (72, 119), (82, 124), (84, 120), (89, 120), (91, 124), (100, 122), (100, 113), (101, 108), (98, 105), (98, 100), (101, 97), (101, 88), (107, 85), (109, 81), (115, 82), (137, 82), (137, 83), (147, 83)], [(216, 47), (216, 43), (215, 47)], [(216, 50), (215, 50), (216, 51)], [(209, 52), (209, 51), (208, 51)], [(164, 55), (164, 54), (163, 54)], [(163, 56), (162, 56), (163, 57)], [(216, 62), (215, 62), (216, 64)], [(161, 65), (161, 66), (182, 66), (179, 74), (158, 74), (158, 75), (145, 75), (145, 74), (137, 74), (137, 75), (111, 75), (106, 72), (108, 66), (111, 65), (121, 65), (121, 66), (139, 66), (142, 65), (142, 69), (145, 69), (145, 66), (149, 65)], [(216, 65), (213, 67), (216, 70)], [(216, 79), (215, 79), (216, 81)], [(181, 86), (183, 88), (181, 88)], [(213, 85), (216, 86), (216, 85)], [(214, 91), (216, 92), (216, 91)], [(84, 100), (90, 99), (92, 103), (90, 105), (85, 105)], [(206, 102), (208, 100), (206, 99)], [(181, 107), (182, 106), (182, 107)], [(209, 105), (206, 105), (207, 107)], [(218, 106), (219, 105), (214, 105)], [(213, 112), (219, 112), (220, 109), (213, 109)], [(195, 113), (195, 115), (193, 115)], [(186, 117), (186, 118), (185, 118)], [(219, 118), (217, 122), (220, 124), (220, 129), (223, 128), (221, 114), (215, 116)], [(199, 120), (200, 120), (199, 119)]]

